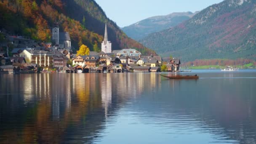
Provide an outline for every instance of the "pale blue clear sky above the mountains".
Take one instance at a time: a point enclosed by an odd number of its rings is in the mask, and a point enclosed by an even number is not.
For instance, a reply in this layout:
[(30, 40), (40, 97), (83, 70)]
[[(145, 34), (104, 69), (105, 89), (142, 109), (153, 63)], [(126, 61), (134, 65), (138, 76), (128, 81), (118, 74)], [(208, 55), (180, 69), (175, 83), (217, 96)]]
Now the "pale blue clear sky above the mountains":
[(223, 0), (95, 0), (119, 27), (134, 24), (151, 16), (173, 12), (201, 11)]

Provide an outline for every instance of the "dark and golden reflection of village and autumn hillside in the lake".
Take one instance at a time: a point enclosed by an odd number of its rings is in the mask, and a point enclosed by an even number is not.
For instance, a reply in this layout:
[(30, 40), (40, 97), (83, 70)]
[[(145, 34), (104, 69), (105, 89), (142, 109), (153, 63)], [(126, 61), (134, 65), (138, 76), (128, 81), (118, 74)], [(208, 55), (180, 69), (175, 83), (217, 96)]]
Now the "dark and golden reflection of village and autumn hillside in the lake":
[[(14, 75), (14, 77), (19, 77), (19, 81), (9, 81), (8, 85), (1, 87), (1, 91), (5, 88), (13, 88), (10, 85), (19, 88), (19, 91), (8, 89), (16, 93), (8, 93), (7, 97), (1, 98), (0, 101), (4, 106), (1, 107), (3, 111), (12, 109), (15, 113), (8, 118), (16, 117), (17, 120), (16, 123), (11, 123), (15, 125), (13, 128), (6, 128), (0, 132), (0, 140), (3, 139), (6, 143), (48, 141), (59, 143), (64, 140), (64, 135), (68, 135), (67, 130), (78, 125), (84, 125), (84, 131), (87, 131), (89, 136), (96, 131), (95, 128), (102, 128), (101, 123), (104, 123), (109, 111), (115, 112), (117, 103), (130, 99), (127, 96), (139, 96), (143, 91), (143, 85), (148, 84), (149, 88), (155, 88), (156, 80), (160, 80), (158, 77), (156, 79), (156, 75), (151, 75), (149, 80), (142, 80), (141, 75), (124, 77), (110, 74), (88, 74), (86, 78), (84, 75), (65, 74)], [(139, 83), (136, 85), (132, 83), (133, 81)], [(113, 95), (118, 95), (118, 98), (113, 98)], [(23, 101), (23, 104), (20, 101)], [(4, 128), (8, 120), (5, 120), (5, 117), (1, 119), (3, 122), (1, 128)], [(72, 133), (79, 135), (78, 131)], [(40, 137), (37, 137), (39, 135)]]

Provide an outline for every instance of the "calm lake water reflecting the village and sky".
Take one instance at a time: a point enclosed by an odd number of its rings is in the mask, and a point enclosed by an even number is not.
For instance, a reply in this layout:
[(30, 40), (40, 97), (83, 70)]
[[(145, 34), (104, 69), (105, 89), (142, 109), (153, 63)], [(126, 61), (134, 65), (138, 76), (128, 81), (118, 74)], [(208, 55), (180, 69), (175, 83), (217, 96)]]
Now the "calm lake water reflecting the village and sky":
[(256, 144), (255, 69), (181, 74), (0, 75), (0, 143)]

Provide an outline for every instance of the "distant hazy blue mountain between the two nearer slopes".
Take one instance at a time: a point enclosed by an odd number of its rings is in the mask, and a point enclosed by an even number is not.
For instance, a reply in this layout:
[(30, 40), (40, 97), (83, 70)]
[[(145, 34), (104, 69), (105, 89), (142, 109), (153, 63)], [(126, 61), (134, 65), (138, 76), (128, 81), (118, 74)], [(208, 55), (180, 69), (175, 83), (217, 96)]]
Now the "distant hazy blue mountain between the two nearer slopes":
[[(197, 13), (197, 12), (196, 12)], [(142, 21), (136, 22), (128, 27), (123, 27), (122, 30), (128, 37), (134, 40), (140, 40), (150, 33), (160, 32), (164, 29), (174, 27), (183, 21), (190, 19), (195, 13), (171, 13), (166, 16), (153, 16)]]

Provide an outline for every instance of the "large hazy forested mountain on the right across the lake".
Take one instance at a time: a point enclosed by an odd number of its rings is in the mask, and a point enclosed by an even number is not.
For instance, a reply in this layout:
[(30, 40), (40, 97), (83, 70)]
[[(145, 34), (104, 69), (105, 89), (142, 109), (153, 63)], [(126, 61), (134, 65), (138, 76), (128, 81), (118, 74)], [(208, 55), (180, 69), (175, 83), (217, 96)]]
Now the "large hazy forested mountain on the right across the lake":
[(162, 56), (256, 59), (256, 1), (224, 0), (188, 21), (140, 40)]

